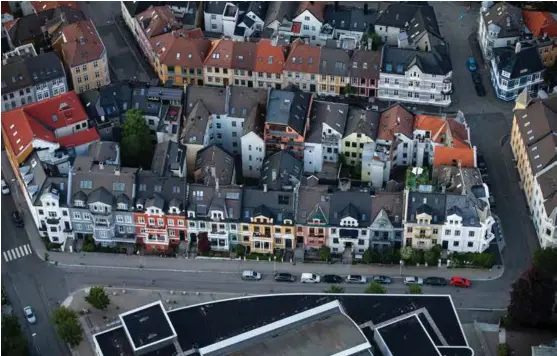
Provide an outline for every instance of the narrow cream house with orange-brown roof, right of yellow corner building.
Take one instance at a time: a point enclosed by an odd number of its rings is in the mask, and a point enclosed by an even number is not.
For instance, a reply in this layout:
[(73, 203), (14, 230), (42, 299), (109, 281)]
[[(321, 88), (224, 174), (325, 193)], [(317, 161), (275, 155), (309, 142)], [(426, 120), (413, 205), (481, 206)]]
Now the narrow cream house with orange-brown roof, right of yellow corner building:
[(233, 83), (233, 51), (233, 41), (219, 40), (213, 44), (209, 55), (203, 63), (203, 80), (205, 85), (227, 87)]

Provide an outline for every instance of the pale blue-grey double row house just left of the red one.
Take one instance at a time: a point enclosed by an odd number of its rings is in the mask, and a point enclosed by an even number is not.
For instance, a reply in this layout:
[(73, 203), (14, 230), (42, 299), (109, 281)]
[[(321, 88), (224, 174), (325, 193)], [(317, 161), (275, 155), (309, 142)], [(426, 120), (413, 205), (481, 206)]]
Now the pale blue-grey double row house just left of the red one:
[(68, 176), (68, 206), (76, 238), (102, 246), (136, 242), (134, 200), (137, 169), (75, 159)]

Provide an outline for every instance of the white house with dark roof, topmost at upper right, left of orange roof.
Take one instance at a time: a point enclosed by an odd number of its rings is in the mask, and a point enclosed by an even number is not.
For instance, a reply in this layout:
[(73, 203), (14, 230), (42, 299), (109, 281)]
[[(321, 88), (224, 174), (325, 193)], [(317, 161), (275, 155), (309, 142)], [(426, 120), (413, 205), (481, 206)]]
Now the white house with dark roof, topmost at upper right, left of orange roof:
[(480, 11), (478, 42), (487, 60), (494, 57), (495, 49), (514, 46), (523, 32), (522, 11), (511, 3), (497, 3)]

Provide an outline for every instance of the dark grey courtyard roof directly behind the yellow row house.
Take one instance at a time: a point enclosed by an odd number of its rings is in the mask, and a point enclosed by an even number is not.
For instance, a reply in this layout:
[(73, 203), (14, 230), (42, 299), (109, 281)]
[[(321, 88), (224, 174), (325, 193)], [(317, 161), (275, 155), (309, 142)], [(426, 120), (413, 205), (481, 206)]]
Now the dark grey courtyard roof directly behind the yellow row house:
[(261, 169), (261, 184), (269, 190), (293, 190), (302, 178), (304, 164), (288, 151), (267, 157)]

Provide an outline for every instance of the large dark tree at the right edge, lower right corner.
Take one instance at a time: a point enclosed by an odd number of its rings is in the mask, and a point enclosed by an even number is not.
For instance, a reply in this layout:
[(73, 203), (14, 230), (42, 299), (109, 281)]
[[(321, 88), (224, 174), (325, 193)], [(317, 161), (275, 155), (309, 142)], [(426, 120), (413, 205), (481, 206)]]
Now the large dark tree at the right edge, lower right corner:
[(508, 311), (509, 321), (520, 326), (540, 326), (553, 314), (555, 283), (531, 267), (513, 283)]

